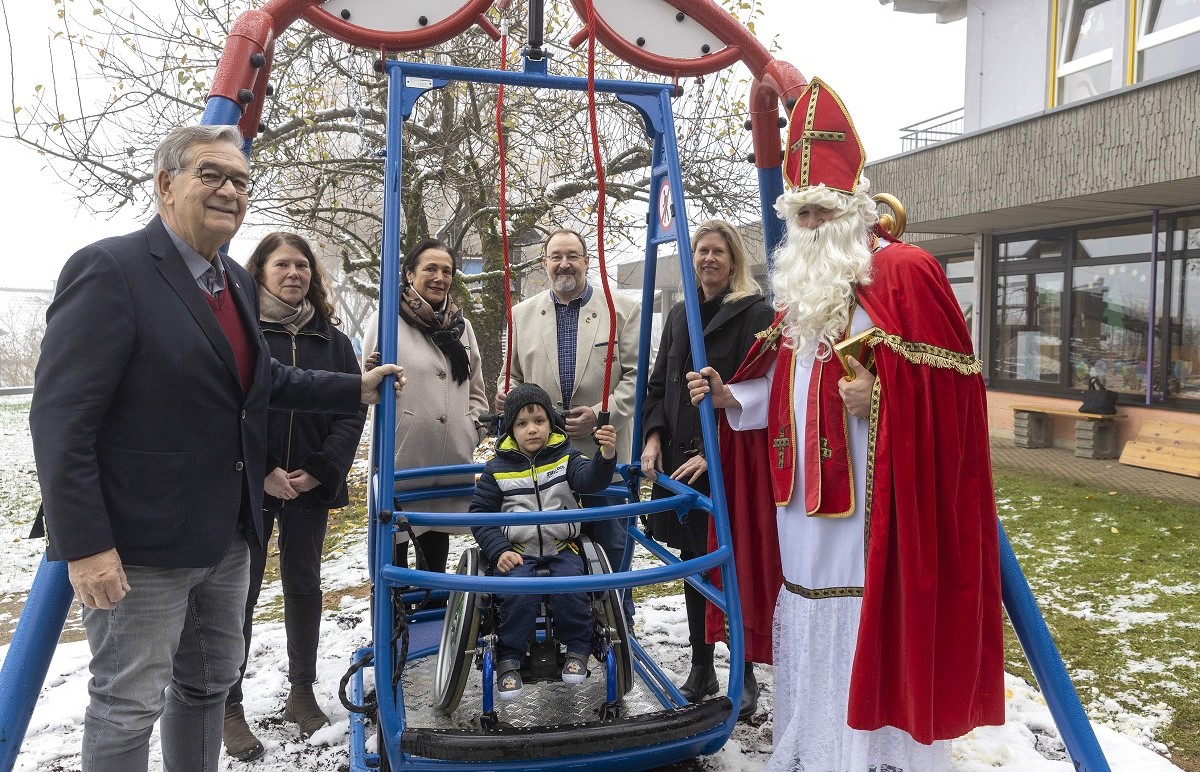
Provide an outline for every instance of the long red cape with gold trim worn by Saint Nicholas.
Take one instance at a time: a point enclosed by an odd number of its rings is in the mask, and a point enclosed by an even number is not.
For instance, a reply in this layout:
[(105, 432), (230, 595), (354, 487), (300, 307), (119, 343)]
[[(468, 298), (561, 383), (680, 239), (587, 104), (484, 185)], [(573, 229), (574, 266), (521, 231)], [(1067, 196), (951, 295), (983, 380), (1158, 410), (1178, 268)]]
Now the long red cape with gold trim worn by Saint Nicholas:
[[(924, 250), (876, 252), (858, 288), (880, 384), (868, 462), (868, 555), (847, 723), (930, 743), (1003, 724), (1000, 552), (983, 377), (946, 273)], [(757, 355), (757, 359), (756, 359)], [(756, 345), (734, 379), (773, 360)], [(740, 376), (740, 377), (739, 377)], [(746, 658), (769, 640), (782, 571), (766, 431), (721, 421)], [(871, 472), (874, 467), (874, 473)], [(709, 639), (721, 633), (710, 608)], [(769, 654), (769, 650), (768, 650)]]

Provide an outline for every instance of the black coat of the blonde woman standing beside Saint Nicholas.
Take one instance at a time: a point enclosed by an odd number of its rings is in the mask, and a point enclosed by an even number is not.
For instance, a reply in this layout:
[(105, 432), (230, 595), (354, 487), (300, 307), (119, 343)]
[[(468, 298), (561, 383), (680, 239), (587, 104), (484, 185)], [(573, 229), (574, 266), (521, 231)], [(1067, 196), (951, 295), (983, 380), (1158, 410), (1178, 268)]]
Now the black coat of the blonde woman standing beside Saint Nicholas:
[[(720, 303), (720, 297), (714, 299)], [(733, 303), (721, 303), (713, 319), (704, 327), (704, 353), (708, 365), (728, 378), (737, 372), (745, 359), (755, 334), (770, 327), (775, 312), (762, 295), (742, 298)], [(702, 453), (704, 442), (700, 429), (700, 408), (692, 406), (684, 376), (694, 370), (691, 343), (688, 339), (688, 315), (683, 301), (677, 303), (662, 324), (662, 339), (654, 369), (647, 384), (646, 402), (642, 407), (642, 431), (649, 437), (660, 433), (662, 445), (662, 469), (671, 474), (688, 457)], [(701, 477), (692, 487), (708, 493), (708, 475)], [(667, 492), (655, 486), (654, 496)], [(708, 514), (692, 510), (680, 525), (674, 513), (650, 515), (650, 535), (668, 546), (696, 553), (707, 551)], [(689, 535), (690, 534), (690, 535)]]

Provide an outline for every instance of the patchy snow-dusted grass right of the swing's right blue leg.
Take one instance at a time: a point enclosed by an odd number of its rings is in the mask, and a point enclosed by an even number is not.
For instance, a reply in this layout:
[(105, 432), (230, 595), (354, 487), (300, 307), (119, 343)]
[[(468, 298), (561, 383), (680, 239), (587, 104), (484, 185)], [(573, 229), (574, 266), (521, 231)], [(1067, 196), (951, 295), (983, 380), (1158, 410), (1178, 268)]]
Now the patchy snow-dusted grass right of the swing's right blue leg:
[(1200, 508), (1008, 473), (996, 498), (1088, 716), (1200, 768)]

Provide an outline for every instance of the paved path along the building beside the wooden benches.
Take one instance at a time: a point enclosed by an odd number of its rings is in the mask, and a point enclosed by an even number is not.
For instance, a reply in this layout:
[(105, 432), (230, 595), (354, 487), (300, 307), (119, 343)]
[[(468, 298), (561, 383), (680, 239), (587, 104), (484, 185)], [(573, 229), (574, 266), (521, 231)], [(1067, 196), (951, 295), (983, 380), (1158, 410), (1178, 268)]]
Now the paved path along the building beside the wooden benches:
[(1126, 466), (1116, 459), (1076, 459), (1068, 448), (1018, 448), (1012, 437), (992, 437), (991, 466), (1200, 507), (1200, 479)]

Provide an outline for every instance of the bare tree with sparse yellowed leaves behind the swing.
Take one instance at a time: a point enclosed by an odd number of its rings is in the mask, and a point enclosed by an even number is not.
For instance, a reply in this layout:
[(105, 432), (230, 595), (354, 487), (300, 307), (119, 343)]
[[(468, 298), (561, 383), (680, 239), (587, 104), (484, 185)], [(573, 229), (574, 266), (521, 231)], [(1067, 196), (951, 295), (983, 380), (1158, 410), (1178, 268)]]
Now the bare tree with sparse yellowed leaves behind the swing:
[[(728, 2), (744, 22), (761, 12), (760, 0)], [(551, 4), (547, 44), (556, 72), (582, 76), (583, 53), (563, 42), (577, 25), (564, 5)], [(13, 104), (10, 137), (47, 156), (92, 211), (149, 209), (154, 146), (168, 128), (197, 122), (222, 46), (245, 8), (180, 0), (176, 16), (158, 18), (132, 0), (124, 10), (97, 1), (86, 17), (64, 12), (52, 41), (52, 72), (28, 104)], [(524, 37), (520, 24), (514, 37)], [(499, 65), (497, 44), (475, 30), (420, 56), (468, 67)], [(251, 222), (300, 231), (332, 256), (340, 312), (352, 335), (361, 331), (367, 309), (353, 294), (374, 297), (379, 280), (386, 90), (376, 58), (378, 52), (353, 50), (294, 25), (276, 42), (275, 96), (264, 106), (265, 130), (252, 151)], [(516, 64), (512, 54), (510, 65)], [(598, 77), (644, 79), (644, 73), (604, 54)], [(752, 175), (744, 161), (749, 136), (742, 130), (746, 107), (737, 96), (745, 92), (744, 83), (726, 72), (680, 85), (678, 142), (692, 214), (752, 216)], [(401, 243), (436, 233), (460, 253), (484, 258), (468, 305), (487, 342), (499, 340), (504, 312), (494, 109), (493, 86), (452, 83), (422, 97), (403, 128)], [(610, 250), (629, 250), (643, 238), (650, 146), (640, 116), (614, 100), (602, 100), (599, 124), (606, 241)], [(558, 225), (594, 233), (596, 174), (584, 96), (508, 89), (504, 125), (509, 233), (516, 243), (532, 243)], [(486, 372), (497, 372), (499, 346), (485, 342), (482, 348)]]

